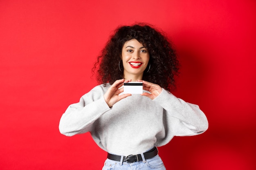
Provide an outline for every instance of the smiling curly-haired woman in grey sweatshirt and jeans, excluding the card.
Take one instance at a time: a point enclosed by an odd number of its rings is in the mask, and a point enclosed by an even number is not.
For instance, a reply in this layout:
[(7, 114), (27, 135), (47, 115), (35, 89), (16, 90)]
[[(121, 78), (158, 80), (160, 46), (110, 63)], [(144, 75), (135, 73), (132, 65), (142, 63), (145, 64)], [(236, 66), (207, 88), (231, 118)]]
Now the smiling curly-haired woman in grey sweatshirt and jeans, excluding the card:
[[(165, 170), (157, 146), (207, 130), (200, 108), (171, 94), (178, 61), (167, 38), (152, 26), (117, 28), (94, 71), (98, 65), (101, 85), (67, 108), (59, 130), (67, 136), (90, 132), (108, 152), (103, 170)], [(142, 82), (143, 93), (125, 94), (127, 82)]]

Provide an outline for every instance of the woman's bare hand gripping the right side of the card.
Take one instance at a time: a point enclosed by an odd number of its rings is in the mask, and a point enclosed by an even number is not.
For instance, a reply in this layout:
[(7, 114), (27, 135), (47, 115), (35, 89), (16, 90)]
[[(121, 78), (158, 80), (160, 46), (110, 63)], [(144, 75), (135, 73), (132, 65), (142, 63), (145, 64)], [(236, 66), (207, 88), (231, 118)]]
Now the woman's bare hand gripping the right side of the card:
[(162, 92), (162, 87), (157, 84), (146, 82), (144, 80), (138, 80), (138, 82), (142, 82), (143, 90), (149, 91), (151, 93), (142, 93), (141, 95), (149, 97), (152, 100)]

